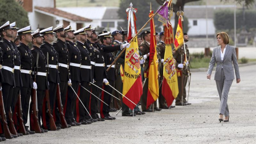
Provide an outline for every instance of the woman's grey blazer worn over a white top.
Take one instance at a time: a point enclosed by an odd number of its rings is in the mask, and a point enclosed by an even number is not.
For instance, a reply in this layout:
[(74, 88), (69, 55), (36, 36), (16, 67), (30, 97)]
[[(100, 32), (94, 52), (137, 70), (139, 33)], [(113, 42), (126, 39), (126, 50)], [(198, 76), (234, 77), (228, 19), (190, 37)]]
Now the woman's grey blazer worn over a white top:
[[(223, 67), (226, 81), (235, 79), (234, 78), (234, 68), (235, 68), (236, 78), (240, 78), (238, 63), (237, 63), (237, 59), (236, 59), (235, 47), (230, 46), (230, 45), (226, 46), (226, 51), (225, 51), (223, 61), (221, 60), (221, 57), (220, 57), (220, 51), (221, 51), (220, 46), (214, 47), (213, 53), (212, 53), (212, 58), (209, 63), (209, 69), (207, 71), (207, 75), (212, 74), (212, 69), (213, 69), (215, 63), (217, 63), (217, 66), (215, 69), (215, 76), (214, 76), (215, 81), (221, 80), (220, 79), (221, 67)], [(232, 63), (234, 65), (234, 68), (233, 68)]]

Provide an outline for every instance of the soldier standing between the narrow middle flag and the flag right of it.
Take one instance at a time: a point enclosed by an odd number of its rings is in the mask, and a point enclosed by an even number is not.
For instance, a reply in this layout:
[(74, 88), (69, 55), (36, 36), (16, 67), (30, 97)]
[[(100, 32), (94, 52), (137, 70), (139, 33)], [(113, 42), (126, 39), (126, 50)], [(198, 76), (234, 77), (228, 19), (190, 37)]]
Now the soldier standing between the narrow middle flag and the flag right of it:
[(159, 78), (159, 97), (158, 97), (158, 104), (159, 104), (159, 108), (162, 109), (169, 109), (167, 107), (166, 101), (162, 95), (162, 83), (163, 83), (163, 62), (164, 62), (164, 53), (165, 53), (165, 43), (164, 43), (164, 32), (162, 31), (159, 34), (159, 43), (157, 44), (157, 49), (160, 52), (160, 57), (161, 57), (161, 62), (159, 62), (158, 65), (161, 65), (161, 69), (159, 71), (160, 73), (160, 78)]

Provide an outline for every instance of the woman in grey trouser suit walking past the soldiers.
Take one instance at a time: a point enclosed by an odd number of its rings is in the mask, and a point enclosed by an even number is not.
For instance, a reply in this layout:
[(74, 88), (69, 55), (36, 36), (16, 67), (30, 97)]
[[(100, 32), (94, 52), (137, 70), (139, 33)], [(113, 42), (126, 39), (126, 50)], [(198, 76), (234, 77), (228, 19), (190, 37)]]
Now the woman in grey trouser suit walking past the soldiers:
[[(239, 68), (236, 59), (235, 47), (228, 45), (229, 37), (225, 32), (218, 33), (216, 35), (218, 44), (220, 46), (213, 49), (212, 58), (209, 63), (209, 69), (207, 71), (207, 79), (211, 79), (211, 74), (215, 63), (217, 63), (215, 69), (214, 80), (217, 85), (217, 90), (220, 97), (220, 113), (219, 121), (229, 122), (229, 110), (228, 110), (228, 92), (234, 78), (234, 68), (236, 74), (236, 83), (241, 81), (239, 75)], [(233, 64), (232, 64), (233, 63)], [(233, 68), (234, 65), (234, 68)], [(223, 115), (225, 118), (223, 119)]]

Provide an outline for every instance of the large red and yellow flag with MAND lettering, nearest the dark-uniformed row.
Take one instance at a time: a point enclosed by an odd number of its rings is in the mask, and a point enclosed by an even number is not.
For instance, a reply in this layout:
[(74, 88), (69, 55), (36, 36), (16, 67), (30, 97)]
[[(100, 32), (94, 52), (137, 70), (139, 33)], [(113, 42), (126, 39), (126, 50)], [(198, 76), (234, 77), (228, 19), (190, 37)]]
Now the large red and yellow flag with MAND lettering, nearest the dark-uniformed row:
[[(128, 39), (132, 39), (132, 35), (136, 33), (136, 17), (137, 9), (129, 7), (126, 9), (128, 17)], [(142, 80), (140, 72), (140, 54), (137, 36), (130, 43), (130, 47), (126, 47), (124, 59), (124, 80), (123, 80), (123, 102), (130, 109), (134, 109), (140, 101), (142, 95)], [(128, 99), (129, 100), (128, 100)], [(131, 101), (133, 102), (131, 102)]]

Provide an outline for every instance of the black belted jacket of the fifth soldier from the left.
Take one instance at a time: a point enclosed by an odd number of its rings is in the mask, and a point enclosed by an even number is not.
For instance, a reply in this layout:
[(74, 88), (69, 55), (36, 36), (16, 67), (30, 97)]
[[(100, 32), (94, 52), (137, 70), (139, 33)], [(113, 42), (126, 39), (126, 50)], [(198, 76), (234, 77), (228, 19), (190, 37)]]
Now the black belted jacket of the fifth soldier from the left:
[[(47, 79), (52, 83), (60, 83), (60, 77), (58, 73), (58, 53), (55, 51), (53, 46), (47, 42), (44, 42), (40, 49), (44, 53), (46, 57), (46, 65), (47, 65), (47, 53), (49, 53), (49, 65), (53, 65), (54, 67), (49, 67), (49, 71), (47, 71)], [(55, 66), (57, 66), (55, 68)]]

